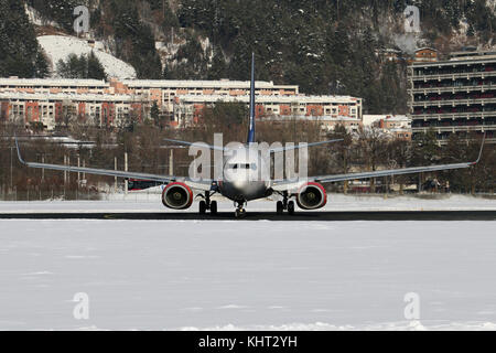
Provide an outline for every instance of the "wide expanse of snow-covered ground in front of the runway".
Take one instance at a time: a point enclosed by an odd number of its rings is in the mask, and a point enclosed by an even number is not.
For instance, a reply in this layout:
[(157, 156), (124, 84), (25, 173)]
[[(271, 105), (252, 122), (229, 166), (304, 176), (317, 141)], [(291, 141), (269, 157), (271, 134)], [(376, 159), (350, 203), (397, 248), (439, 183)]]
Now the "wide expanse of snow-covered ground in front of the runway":
[(0, 330), (495, 330), (495, 228), (0, 221)]

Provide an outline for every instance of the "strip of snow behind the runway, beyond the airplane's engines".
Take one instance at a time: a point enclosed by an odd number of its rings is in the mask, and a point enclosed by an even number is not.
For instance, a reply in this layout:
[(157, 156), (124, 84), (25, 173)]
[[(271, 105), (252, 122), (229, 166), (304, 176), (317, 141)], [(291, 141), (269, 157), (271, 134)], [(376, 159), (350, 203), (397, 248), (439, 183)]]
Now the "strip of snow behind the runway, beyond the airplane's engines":
[[(84, 196), (84, 195), (83, 195)], [(30, 212), (174, 212), (164, 208), (157, 191), (106, 194), (103, 201), (33, 201), (0, 202), (0, 213)], [(223, 197), (220, 211), (234, 211), (233, 202)], [(327, 205), (321, 211), (496, 211), (496, 197), (484, 199), (464, 195), (446, 195), (441, 199), (421, 199), (414, 196), (370, 196), (330, 194)], [(276, 211), (276, 202), (270, 200), (249, 202), (247, 211)], [(181, 211), (183, 212), (183, 211)], [(197, 212), (197, 205), (186, 212)]]

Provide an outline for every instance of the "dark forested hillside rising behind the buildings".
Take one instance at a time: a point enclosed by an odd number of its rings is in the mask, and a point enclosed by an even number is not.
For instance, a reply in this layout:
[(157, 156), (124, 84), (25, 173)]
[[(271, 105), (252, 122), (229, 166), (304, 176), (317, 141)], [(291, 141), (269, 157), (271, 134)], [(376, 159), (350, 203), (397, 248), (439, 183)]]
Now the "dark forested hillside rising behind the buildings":
[[(257, 78), (298, 84), (306, 94), (349, 94), (368, 113), (406, 113), (408, 56), (430, 45), (441, 54), (463, 45), (490, 46), (493, 0), (412, 0), (421, 33), (406, 34), (406, 0), (25, 0), (46, 23), (72, 34), (73, 9), (90, 9), (90, 35), (106, 41), (140, 78), (246, 79), (249, 56)], [(43, 60), (22, 1), (0, 0), (0, 74), (43, 75)], [(3, 9), (7, 9), (4, 11)], [(160, 42), (161, 46), (155, 46)], [(21, 69), (12, 62), (22, 57)], [(35, 67), (35, 68), (33, 68)]]

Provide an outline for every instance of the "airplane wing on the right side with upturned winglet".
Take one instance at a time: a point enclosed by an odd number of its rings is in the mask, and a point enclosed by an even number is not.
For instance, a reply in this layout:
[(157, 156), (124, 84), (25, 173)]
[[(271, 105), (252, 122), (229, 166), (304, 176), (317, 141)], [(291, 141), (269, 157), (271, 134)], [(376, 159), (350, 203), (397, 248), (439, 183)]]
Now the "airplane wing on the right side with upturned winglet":
[(429, 165), (429, 167), (411, 167), (403, 169), (390, 169), (390, 170), (379, 170), (374, 172), (363, 172), (363, 173), (348, 173), (348, 174), (334, 174), (334, 175), (321, 175), (321, 176), (311, 176), (304, 181), (274, 181), (272, 184), (272, 190), (274, 191), (289, 191), (296, 190), (301, 188), (306, 182), (320, 182), (320, 183), (332, 183), (339, 182), (346, 180), (358, 180), (358, 179), (370, 179), (370, 178), (379, 178), (379, 176), (389, 176), (389, 175), (402, 175), (402, 174), (414, 174), (414, 173), (424, 173), (424, 172), (433, 172), (433, 171), (442, 171), (442, 170), (452, 170), (452, 169), (463, 169), (475, 165), (479, 162), (483, 148), (484, 140), (481, 146), (481, 151), (478, 153), (478, 158), (475, 162), (464, 162), (464, 163), (453, 163), (453, 164), (439, 164), (439, 165)]

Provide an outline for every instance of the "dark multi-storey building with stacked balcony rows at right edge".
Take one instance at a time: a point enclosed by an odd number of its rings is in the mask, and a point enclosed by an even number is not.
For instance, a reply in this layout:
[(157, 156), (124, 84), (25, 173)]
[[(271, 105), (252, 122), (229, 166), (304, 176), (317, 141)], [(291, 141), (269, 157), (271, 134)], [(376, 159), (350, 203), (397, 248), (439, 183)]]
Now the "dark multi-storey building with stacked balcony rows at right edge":
[(450, 133), (487, 135), (496, 141), (496, 52), (459, 52), (443, 62), (408, 67), (413, 139), (433, 129), (440, 143)]

